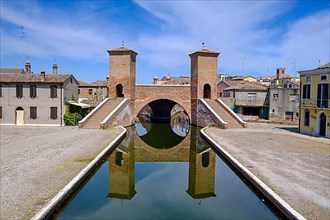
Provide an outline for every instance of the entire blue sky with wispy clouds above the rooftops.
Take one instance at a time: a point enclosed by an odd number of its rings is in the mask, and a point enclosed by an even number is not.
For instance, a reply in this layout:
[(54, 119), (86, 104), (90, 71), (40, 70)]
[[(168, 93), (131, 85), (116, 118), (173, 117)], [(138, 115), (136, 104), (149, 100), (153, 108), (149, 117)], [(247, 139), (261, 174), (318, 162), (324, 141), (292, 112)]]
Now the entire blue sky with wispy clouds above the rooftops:
[[(220, 52), (218, 72), (298, 76), (330, 60), (330, 1), (7, 1), (1, 0), (1, 67), (105, 79), (108, 49), (138, 52), (137, 83), (190, 75), (189, 54)], [(21, 29), (24, 26), (24, 39)], [(23, 58), (24, 52), (24, 58)], [(111, 73), (110, 73), (111, 74)]]

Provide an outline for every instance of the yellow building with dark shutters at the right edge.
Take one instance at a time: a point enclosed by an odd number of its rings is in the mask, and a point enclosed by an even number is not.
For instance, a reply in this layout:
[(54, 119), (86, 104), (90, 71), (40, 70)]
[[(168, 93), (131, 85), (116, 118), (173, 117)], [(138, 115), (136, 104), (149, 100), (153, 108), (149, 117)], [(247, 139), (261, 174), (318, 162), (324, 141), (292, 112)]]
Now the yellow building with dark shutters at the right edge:
[(330, 138), (330, 63), (299, 74), (299, 131)]

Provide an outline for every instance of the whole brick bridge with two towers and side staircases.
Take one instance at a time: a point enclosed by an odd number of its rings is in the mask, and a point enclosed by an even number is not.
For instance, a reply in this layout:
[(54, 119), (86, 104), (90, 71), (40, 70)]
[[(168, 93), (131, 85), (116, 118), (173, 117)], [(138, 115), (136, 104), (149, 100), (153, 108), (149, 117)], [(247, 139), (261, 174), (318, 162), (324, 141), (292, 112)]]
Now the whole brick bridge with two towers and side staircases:
[(108, 98), (79, 122), (83, 128), (129, 126), (149, 105), (156, 118), (168, 118), (175, 104), (183, 107), (193, 125), (220, 128), (246, 127), (228, 106), (217, 99), (219, 53), (202, 49), (190, 54), (190, 85), (136, 85), (137, 53), (125, 47), (108, 50)]

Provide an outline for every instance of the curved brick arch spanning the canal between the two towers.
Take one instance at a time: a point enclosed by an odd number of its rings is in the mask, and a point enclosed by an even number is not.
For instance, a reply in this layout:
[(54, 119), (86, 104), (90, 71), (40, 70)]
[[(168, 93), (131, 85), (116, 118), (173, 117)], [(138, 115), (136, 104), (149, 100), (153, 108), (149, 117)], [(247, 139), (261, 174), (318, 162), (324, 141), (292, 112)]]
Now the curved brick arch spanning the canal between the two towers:
[(159, 94), (155, 94), (152, 96), (149, 96), (148, 98), (144, 99), (144, 100), (135, 100), (135, 118), (137, 117), (137, 114), (141, 111), (141, 109), (148, 105), (149, 103), (156, 101), (156, 100), (160, 100), (160, 99), (167, 99), (170, 101), (173, 101), (179, 105), (181, 105), (183, 107), (183, 109), (186, 111), (186, 113), (188, 114), (189, 118), (191, 119), (191, 106), (190, 106), (190, 100), (181, 100), (179, 97), (172, 95), (172, 94), (167, 94), (166, 97), (159, 95)]

